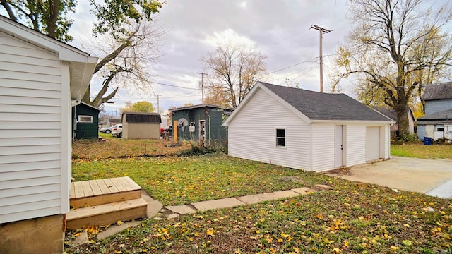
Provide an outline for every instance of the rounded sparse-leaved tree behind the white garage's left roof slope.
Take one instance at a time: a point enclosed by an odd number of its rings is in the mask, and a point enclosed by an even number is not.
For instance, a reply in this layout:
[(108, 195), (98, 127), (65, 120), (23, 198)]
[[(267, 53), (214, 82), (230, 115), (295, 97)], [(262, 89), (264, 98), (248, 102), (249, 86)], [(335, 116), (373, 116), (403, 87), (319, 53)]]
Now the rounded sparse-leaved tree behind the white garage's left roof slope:
[(207, 101), (236, 108), (266, 71), (264, 59), (266, 56), (246, 44), (218, 45), (208, 52), (201, 59), (208, 69)]

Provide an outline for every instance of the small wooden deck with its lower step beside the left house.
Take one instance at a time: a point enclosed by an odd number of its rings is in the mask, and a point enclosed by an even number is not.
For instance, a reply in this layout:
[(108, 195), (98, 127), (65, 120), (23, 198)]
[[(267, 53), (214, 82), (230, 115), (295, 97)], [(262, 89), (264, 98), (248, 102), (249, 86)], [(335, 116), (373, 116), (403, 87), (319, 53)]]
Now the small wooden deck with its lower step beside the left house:
[(129, 176), (72, 182), (69, 203), (69, 229), (145, 217), (148, 205), (141, 198), (141, 187)]

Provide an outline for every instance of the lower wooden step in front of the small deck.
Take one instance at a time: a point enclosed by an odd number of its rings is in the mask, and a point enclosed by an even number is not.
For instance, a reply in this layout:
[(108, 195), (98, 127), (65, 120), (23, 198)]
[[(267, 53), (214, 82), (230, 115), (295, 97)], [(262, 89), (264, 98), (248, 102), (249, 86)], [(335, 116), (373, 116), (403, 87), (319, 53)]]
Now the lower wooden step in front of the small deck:
[(66, 214), (68, 229), (81, 229), (83, 226), (101, 226), (146, 217), (148, 202), (143, 198), (112, 202), (109, 204), (83, 207)]

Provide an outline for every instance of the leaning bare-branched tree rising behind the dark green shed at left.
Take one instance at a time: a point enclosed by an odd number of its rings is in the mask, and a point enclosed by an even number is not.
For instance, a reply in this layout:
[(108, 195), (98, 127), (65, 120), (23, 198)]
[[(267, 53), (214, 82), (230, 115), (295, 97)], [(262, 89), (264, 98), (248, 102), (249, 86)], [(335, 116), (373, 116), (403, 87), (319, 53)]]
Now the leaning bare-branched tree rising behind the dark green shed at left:
[(122, 37), (103, 36), (91, 45), (91, 51), (102, 57), (94, 71), (95, 77), (102, 80), (102, 85), (93, 99), (88, 89), (83, 101), (99, 107), (111, 102), (119, 87), (148, 90), (152, 70), (150, 63), (161, 56), (159, 46), (164, 32), (155, 22), (142, 20), (141, 23), (127, 25)]

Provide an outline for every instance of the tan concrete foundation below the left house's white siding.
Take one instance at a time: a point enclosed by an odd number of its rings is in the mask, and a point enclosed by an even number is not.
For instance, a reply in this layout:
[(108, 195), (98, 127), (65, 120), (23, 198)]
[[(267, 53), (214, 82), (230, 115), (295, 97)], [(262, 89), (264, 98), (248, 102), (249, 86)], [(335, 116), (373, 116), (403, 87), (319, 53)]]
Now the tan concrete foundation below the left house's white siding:
[(0, 253), (59, 253), (64, 250), (63, 214), (0, 224)]

